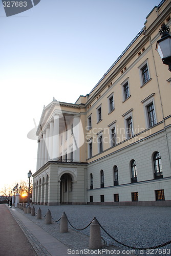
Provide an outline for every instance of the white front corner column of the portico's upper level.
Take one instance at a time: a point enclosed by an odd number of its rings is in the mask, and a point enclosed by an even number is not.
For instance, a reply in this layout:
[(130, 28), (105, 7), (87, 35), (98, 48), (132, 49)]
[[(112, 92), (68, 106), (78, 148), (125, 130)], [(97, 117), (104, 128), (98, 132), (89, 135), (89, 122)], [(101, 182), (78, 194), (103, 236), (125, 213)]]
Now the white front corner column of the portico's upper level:
[(54, 127), (53, 127), (53, 153), (52, 159), (58, 160), (59, 158), (59, 114), (55, 113)]

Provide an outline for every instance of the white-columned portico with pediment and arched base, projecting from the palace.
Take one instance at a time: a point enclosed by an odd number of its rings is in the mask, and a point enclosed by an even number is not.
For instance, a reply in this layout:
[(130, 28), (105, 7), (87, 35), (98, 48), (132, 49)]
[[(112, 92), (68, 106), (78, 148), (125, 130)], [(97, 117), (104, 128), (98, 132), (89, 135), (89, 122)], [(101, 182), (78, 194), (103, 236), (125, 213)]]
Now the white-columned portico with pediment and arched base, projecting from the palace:
[(37, 171), (33, 175), (36, 204), (87, 202), (87, 164), (86, 159), (80, 160), (84, 113), (79, 105), (67, 104), (54, 99), (41, 115), (37, 129)]

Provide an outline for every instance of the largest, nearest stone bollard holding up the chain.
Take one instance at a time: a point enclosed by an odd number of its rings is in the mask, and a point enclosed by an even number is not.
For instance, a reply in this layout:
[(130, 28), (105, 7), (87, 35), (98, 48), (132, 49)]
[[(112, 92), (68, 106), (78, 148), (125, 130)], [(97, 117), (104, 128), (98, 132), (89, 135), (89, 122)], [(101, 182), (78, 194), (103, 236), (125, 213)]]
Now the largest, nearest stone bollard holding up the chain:
[(90, 225), (90, 249), (100, 249), (101, 247), (100, 226), (96, 220), (93, 220)]

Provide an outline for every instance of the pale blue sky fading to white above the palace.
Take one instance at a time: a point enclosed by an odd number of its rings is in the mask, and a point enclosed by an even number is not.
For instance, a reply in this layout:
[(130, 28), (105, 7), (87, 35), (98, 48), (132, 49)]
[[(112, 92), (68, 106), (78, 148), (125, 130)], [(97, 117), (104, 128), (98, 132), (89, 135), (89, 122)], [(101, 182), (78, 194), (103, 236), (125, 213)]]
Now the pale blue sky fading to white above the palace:
[(0, 191), (36, 172), (37, 140), (27, 134), (44, 105), (90, 93), (160, 2), (41, 0), (10, 17), (0, 2)]

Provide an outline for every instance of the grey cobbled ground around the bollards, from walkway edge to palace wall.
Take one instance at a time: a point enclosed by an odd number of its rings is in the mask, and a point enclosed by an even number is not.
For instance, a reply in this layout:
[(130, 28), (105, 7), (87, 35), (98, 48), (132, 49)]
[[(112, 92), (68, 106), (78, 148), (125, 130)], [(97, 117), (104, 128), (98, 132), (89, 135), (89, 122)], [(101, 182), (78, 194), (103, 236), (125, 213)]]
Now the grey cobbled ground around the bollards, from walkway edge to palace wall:
[[(170, 240), (171, 230), (171, 213), (170, 207), (138, 207), (138, 206), (102, 206), (102, 205), (61, 205), (61, 206), (43, 206), (34, 205), (35, 210), (41, 208), (42, 216), (46, 215), (48, 209), (52, 213), (54, 220), (58, 220), (63, 211), (66, 212), (69, 221), (74, 227), (83, 228), (87, 226), (94, 216), (100, 224), (118, 241), (134, 247), (151, 247)], [(29, 214), (24, 214), (32, 220), (36, 225), (46, 230), (57, 240), (67, 245), (72, 250), (89, 249), (90, 227), (83, 231), (69, 229), (68, 233), (59, 232), (59, 222), (52, 220), (51, 225), (45, 224), (45, 217), (42, 220), (37, 220)], [(70, 227), (70, 225), (69, 225)], [(81, 232), (81, 233), (80, 233)], [(102, 236), (110, 239), (105, 233)], [(103, 247), (108, 249), (102, 255), (170, 255), (170, 244), (161, 249), (154, 251), (138, 251), (128, 247), (123, 247), (110, 239), (112, 245)], [(119, 250), (120, 251), (116, 251)], [(123, 254), (121, 254), (121, 251)], [(127, 254), (126, 254), (127, 251)], [(72, 254), (72, 253), (71, 253)], [(78, 254), (77, 252), (75, 254)], [(88, 251), (79, 253), (80, 255), (88, 254)], [(90, 254), (90, 253), (89, 253)], [(97, 254), (97, 251), (91, 255)], [(98, 254), (101, 254), (100, 252)], [(48, 254), (39, 254), (48, 255)]]

